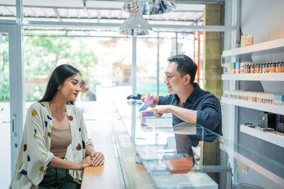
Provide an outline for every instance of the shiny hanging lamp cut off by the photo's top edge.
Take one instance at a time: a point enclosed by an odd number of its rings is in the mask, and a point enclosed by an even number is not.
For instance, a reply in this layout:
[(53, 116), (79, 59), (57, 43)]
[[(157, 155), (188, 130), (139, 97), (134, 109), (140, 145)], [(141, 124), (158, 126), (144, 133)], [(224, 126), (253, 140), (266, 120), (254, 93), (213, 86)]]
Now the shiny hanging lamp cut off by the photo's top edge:
[(175, 0), (124, 0), (122, 10), (141, 15), (155, 15), (175, 11)]

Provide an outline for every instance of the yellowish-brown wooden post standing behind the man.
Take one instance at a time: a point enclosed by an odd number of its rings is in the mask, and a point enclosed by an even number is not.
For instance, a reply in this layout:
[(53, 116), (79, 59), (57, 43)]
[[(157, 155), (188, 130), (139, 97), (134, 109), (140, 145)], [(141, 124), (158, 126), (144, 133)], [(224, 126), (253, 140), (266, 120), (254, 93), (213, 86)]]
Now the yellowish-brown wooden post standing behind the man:
[[(204, 25), (223, 25), (224, 6), (206, 4), (204, 9)], [(204, 90), (210, 91), (217, 98), (222, 96), (222, 67), (221, 55), (223, 51), (223, 33), (204, 32), (204, 61), (203, 79)], [(203, 142), (203, 165), (219, 165), (219, 139), (214, 142)], [(219, 183), (218, 173), (209, 173), (209, 176)]]

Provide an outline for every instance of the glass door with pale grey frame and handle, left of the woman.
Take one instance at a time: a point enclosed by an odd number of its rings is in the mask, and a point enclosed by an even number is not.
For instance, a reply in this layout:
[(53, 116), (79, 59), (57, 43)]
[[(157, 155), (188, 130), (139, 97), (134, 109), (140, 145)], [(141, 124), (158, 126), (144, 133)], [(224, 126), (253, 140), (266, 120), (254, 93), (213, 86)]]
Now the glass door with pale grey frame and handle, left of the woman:
[(16, 25), (0, 24), (0, 178), (3, 188), (9, 187), (23, 133), (23, 72), (18, 51), (21, 50), (21, 34), (16, 33)]

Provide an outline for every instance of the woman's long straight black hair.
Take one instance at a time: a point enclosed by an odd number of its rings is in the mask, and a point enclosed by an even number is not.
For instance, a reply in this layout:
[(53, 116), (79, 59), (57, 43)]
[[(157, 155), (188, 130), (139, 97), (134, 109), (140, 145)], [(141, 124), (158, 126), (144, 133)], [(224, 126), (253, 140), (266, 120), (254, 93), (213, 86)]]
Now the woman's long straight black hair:
[(70, 78), (70, 76), (74, 76), (76, 74), (80, 74), (80, 71), (69, 64), (62, 64), (56, 67), (48, 80), (48, 86), (46, 87), (43, 98), (38, 102), (52, 101), (55, 94), (58, 92), (58, 87), (62, 86), (66, 79)]

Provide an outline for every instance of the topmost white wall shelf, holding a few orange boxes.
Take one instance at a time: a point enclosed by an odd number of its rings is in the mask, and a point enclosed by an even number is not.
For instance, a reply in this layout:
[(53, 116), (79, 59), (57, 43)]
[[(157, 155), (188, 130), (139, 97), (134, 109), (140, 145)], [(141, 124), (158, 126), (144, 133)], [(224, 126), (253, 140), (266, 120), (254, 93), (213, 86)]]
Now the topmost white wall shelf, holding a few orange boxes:
[(253, 52), (280, 52), (284, 50), (284, 38), (278, 40), (271, 40), (267, 42), (260, 42), (256, 45), (239, 47), (232, 50), (223, 51), (222, 57), (231, 57), (236, 55), (250, 55)]

